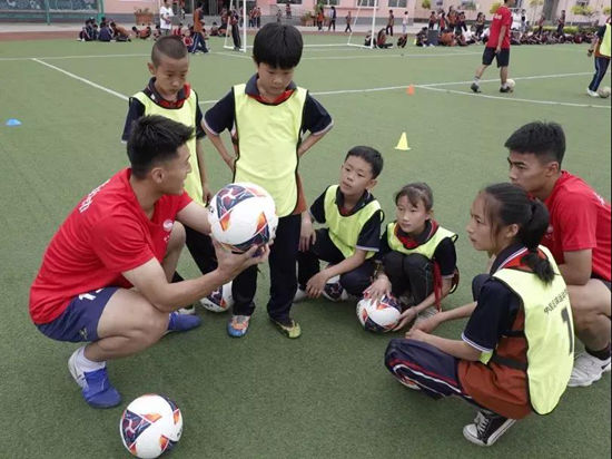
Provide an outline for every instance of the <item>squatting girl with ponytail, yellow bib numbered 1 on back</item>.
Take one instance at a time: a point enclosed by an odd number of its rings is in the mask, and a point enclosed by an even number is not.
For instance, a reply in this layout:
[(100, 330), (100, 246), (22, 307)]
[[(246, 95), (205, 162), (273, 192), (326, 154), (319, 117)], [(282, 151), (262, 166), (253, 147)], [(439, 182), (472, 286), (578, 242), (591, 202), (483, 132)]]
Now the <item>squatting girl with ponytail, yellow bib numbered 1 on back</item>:
[[(470, 242), (493, 258), (472, 283), (474, 302), (392, 340), (385, 364), (411, 389), (473, 403), (478, 413), (463, 434), (491, 446), (517, 419), (556, 407), (572, 371), (573, 323), (566, 285), (540, 245), (546, 207), (515, 185), (496, 184), (476, 195), (470, 214)], [(470, 319), (461, 340), (431, 334), (463, 318)]]

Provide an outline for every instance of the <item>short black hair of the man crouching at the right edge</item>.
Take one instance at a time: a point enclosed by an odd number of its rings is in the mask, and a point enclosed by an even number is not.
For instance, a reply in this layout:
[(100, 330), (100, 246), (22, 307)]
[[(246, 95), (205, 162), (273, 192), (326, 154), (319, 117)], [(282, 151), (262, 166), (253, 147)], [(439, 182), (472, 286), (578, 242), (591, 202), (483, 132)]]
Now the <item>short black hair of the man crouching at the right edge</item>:
[(533, 153), (541, 163), (556, 162), (565, 154), (565, 134), (556, 123), (529, 123), (512, 134), (504, 146), (511, 152)]

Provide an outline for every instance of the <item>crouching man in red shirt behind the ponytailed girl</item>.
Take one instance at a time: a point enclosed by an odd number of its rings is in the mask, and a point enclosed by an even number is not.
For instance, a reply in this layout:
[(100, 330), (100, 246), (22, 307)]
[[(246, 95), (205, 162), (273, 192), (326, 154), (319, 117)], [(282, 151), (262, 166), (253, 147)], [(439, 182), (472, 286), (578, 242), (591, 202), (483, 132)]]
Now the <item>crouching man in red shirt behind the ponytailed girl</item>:
[(553, 254), (570, 294), (574, 330), (585, 351), (567, 385), (591, 385), (610, 371), (610, 203), (561, 169), (565, 135), (555, 123), (530, 123), (505, 143), (510, 179), (542, 201), (550, 225), (542, 244)]

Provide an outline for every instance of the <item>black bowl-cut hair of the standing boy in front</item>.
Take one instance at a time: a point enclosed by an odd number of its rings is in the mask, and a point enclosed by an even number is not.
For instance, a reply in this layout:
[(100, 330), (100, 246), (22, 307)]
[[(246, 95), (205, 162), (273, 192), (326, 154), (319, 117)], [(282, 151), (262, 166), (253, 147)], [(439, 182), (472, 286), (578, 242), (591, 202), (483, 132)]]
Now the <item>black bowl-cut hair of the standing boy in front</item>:
[(253, 59), (257, 65), (293, 69), (302, 59), (304, 41), (294, 26), (268, 22), (255, 36)]

